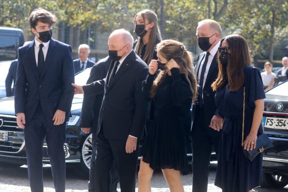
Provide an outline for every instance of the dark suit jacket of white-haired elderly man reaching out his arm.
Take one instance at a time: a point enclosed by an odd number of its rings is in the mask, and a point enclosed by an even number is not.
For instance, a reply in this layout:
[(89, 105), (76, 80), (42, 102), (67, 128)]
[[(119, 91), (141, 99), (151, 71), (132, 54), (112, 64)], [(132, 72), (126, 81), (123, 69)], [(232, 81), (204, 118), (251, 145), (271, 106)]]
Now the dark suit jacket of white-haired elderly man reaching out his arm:
[[(107, 76), (113, 64), (110, 64)], [(109, 86), (106, 84), (107, 76), (103, 80), (83, 86), (87, 95), (104, 90), (97, 134), (103, 128), (103, 134), (108, 139), (126, 141), (129, 135), (141, 137), (148, 110), (148, 102), (142, 95), (142, 82), (147, 70), (147, 64), (132, 51), (121, 64)]]

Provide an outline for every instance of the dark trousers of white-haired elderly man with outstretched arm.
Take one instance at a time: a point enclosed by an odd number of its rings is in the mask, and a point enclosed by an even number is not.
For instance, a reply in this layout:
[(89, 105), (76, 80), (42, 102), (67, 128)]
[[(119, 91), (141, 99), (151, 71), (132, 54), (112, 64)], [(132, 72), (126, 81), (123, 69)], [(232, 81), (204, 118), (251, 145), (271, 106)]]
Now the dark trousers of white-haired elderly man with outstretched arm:
[(113, 161), (119, 175), (121, 192), (135, 192), (138, 147), (133, 153), (126, 153), (125, 147), (126, 140), (107, 139), (102, 131), (97, 135), (96, 192), (110, 192)]

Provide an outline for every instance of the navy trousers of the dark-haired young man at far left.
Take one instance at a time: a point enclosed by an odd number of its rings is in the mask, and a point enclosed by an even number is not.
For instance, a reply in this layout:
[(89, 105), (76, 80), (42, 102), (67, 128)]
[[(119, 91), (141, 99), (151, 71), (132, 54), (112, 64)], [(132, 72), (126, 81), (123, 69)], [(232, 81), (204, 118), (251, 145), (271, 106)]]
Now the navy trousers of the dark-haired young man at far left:
[(40, 105), (31, 122), (26, 124), (24, 129), (31, 192), (43, 192), (42, 158), (45, 136), (55, 191), (65, 192), (66, 168), (63, 145), (66, 139), (66, 123), (60, 126), (53, 126), (52, 120), (47, 122), (42, 114)]

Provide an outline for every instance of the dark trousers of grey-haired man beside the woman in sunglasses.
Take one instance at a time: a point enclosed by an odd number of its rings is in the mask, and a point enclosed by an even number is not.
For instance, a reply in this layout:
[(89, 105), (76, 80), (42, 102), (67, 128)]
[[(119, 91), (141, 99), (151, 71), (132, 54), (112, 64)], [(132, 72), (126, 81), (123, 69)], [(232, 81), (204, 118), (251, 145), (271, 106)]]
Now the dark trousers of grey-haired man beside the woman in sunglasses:
[(210, 156), (219, 149), (221, 131), (216, 131), (205, 125), (203, 110), (197, 109), (192, 130), (192, 170), (193, 192), (207, 192)]

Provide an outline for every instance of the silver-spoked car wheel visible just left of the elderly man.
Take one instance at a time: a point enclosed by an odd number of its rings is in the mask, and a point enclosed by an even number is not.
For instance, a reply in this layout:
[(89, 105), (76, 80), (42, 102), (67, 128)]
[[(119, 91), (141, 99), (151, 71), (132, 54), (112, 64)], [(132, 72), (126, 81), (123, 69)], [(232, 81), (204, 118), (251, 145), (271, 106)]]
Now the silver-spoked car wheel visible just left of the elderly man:
[(82, 169), (89, 174), (92, 157), (92, 134), (89, 134), (83, 142), (80, 164)]

